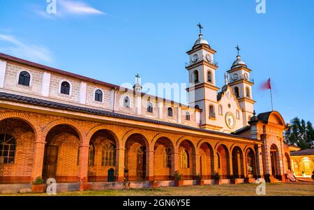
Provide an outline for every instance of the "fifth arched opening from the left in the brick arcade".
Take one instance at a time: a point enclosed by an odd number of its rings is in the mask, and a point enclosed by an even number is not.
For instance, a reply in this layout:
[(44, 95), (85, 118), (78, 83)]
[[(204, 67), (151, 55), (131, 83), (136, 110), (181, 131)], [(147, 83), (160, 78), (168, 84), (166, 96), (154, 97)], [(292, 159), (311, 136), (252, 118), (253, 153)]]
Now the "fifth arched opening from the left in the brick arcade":
[(154, 145), (154, 180), (174, 177), (174, 147), (170, 139), (160, 137)]

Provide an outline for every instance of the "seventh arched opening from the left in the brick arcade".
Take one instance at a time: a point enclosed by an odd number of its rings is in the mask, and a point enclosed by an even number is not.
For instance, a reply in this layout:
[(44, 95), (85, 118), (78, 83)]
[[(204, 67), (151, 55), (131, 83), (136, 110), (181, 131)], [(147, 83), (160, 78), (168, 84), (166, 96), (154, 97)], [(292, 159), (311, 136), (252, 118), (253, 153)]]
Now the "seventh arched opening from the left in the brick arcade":
[(204, 142), (200, 146), (200, 174), (202, 179), (214, 179), (214, 150)]

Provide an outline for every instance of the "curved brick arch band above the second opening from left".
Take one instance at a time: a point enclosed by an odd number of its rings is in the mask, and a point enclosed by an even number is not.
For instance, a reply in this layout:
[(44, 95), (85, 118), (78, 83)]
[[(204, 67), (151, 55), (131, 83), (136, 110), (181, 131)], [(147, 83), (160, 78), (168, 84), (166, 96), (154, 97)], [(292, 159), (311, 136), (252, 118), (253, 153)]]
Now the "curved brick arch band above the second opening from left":
[(52, 121), (48, 123), (45, 127), (43, 127), (43, 137), (47, 137), (47, 134), (49, 131), (54, 128), (55, 126), (59, 125), (67, 125), (70, 126), (75, 130), (77, 135), (80, 137), (80, 141), (82, 145), (89, 145), (89, 142), (83, 142), (84, 138), (80, 130), (82, 130), (82, 126), (80, 125), (79, 122), (74, 121), (72, 119), (57, 119), (55, 121)]

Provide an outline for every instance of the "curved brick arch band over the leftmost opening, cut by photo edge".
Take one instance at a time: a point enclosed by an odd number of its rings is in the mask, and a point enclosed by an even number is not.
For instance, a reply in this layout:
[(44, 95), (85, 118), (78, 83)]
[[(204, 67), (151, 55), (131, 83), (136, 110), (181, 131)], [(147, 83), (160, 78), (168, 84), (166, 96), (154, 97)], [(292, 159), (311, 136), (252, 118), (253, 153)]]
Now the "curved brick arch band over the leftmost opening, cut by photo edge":
[(28, 114), (22, 112), (6, 112), (0, 114), (0, 121), (3, 121), (5, 119), (20, 119), (24, 121), (25, 123), (29, 124), (29, 126), (31, 126), (31, 128), (33, 129), (33, 132), (35, 133), (36, 142), (45, 141), (40, 139), (42, 133), (38, 122), (36, 121), (36, 119), (30, 117)]

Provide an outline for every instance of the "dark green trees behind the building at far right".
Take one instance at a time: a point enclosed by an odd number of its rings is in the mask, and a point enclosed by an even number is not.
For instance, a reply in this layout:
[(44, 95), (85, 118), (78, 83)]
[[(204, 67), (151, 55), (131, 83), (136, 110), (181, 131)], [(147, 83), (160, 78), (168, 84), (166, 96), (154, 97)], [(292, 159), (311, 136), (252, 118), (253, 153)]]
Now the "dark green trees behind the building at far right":
[(291, 126), (285, 132), (285, 142), (294, 146), (301, 147), (301, 149), (308, 149), (313, 147), (314, 129), (310, 121), (304, 121), (295, 117), (290, 121)]

